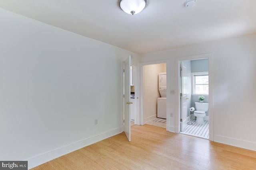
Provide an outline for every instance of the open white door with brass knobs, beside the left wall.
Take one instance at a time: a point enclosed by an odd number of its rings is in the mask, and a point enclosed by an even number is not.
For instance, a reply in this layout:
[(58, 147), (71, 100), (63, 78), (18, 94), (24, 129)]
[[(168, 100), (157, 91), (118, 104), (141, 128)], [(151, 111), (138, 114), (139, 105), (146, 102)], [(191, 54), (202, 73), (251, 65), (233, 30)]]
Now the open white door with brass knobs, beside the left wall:
[(124, 61), (124, 133), (131, 141), (131, 56)]

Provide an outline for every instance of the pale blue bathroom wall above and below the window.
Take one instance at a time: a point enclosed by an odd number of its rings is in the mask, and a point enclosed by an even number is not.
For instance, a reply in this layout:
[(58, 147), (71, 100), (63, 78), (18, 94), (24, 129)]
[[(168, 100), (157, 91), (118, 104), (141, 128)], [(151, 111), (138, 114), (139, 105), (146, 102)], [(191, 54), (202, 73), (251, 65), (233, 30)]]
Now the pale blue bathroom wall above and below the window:
[[(208, 59), (200, 59), (200, 60), (192, 60), (191, 61), (191, 72), (204, 72), (208, 71)], [(199, 95), (191, 96), (191, 104), (192, 107), (195, 107), (195, 102), (199, 102)], [(209, 96), (204, 95), (204, 103), (209, 103)], [(209, 116), (208, 111), (206, 112), (206, 116)]]

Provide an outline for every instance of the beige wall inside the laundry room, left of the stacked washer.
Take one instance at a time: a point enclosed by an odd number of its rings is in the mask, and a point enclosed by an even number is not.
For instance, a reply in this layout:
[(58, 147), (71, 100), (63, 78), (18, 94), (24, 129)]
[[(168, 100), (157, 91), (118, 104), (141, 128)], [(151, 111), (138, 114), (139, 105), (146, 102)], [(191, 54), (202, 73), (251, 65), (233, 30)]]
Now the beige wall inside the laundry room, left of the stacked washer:
[(166, 72), (166, 63), (150, 64), (143, 66), (143, 123), (157, 116), (158, 74)]

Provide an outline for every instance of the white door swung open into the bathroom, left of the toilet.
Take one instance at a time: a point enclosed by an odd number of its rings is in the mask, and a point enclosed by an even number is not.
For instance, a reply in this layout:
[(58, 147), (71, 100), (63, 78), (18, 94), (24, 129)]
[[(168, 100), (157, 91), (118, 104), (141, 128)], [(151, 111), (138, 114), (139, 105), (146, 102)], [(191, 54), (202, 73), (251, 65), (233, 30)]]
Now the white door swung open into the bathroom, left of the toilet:
[(180, 80), (181, 80), (181, 100), (180, 100), (180, 131), (183, 131), (187, 125), (187, 78), (188, 78), (188, 74), (187, 74), (187, 68), (186, 68), (186, 64), (184, 62), (181, 62), (180, 64)]

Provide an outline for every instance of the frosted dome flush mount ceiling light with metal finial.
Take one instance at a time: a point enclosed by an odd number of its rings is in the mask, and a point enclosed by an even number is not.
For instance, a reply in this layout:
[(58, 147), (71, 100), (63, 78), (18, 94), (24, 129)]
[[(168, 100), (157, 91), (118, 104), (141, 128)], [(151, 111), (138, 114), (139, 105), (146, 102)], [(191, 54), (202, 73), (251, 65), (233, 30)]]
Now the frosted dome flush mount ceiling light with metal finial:
[(120, 8), (127, 14), (138, 14), (147, 4), (147, 0), (119, 0)]

